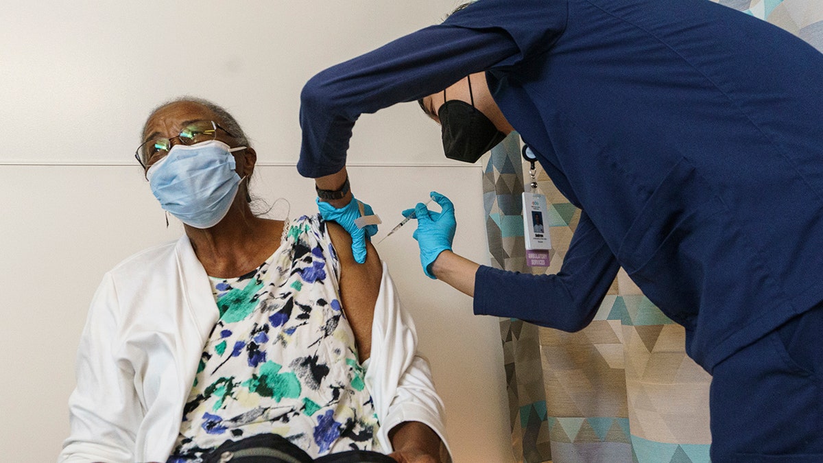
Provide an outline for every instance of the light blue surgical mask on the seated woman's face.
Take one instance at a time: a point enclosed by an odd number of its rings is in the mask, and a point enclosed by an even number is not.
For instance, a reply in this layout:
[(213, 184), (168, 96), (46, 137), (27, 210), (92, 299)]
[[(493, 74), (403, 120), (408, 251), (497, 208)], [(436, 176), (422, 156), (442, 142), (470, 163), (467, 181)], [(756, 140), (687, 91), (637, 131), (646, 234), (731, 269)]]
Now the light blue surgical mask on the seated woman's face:
[(160, 207), (195, 228), (214, 227), (226, 217), (242, 180), (229, 148), (218, 140), (174, 145), (149, 167), (146, 178)]

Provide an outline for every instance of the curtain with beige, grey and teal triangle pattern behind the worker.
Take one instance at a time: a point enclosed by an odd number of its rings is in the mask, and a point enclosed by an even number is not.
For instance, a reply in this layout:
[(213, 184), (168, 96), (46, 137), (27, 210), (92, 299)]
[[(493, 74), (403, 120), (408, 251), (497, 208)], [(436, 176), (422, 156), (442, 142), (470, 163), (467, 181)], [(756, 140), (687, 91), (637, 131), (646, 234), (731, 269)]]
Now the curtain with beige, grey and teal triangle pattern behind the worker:
[[(820, 0), (718, 2), (783, 27), (823, 51)], [(520, 157), (516, 133), (486, 161), (483, 201), (491, 264), (554, 274), (579, 210), (538, 165), (554, 249), (549, 267), (527, 267), (520, 199), (524, 171), (528, 164)], [(683, 328), (644, 297), (622, 269), (584, 330), (569, 334), (501, 319), (500, 335), (516, 461), (709, 461), (711, 377), (686, 356)]]

